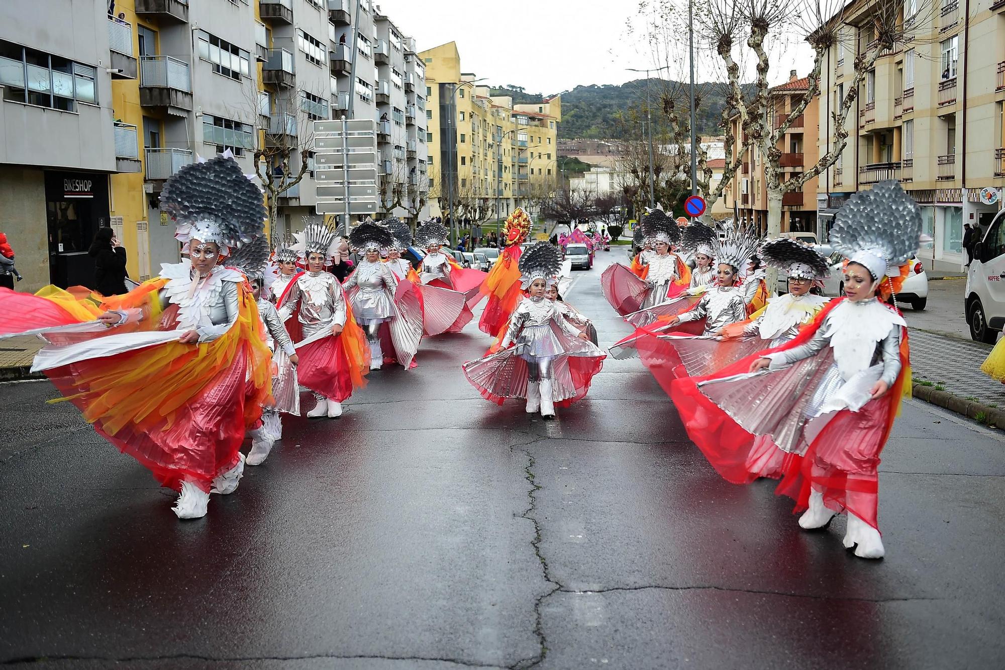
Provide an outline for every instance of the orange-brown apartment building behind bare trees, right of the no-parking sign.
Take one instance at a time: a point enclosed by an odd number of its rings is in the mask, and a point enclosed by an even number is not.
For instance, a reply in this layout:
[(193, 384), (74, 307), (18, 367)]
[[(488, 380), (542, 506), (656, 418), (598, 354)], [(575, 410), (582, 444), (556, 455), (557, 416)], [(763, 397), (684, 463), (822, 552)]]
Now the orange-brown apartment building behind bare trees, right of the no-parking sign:
[[(796, 70), (789, 73), (789, 80), (774, 87), (769, 97), (768, 122), (774, 130), (781, 128), (792, 110), (805, 99), (809, 80), (799, 77)], [(782, 155), (779, 166), (782, 179), (787, 181), (801, 174), (819, 160), (817, 127), (819, 125), (819, 98), (813, 98), (782, 137), (777, 147)], [(733, 155), (743, 148), (744, 133), (739, 116), (733, 121)], [(764, 160), (760, 148), (750, 147), (743, 152), (743, 164), (733, 177), (723, 197), (729, 211), (737, 211), (760, 230), (768, 228), (768, 188), (765, 180)], [(716, 213), (716, 212), (714, 212)], [(782, 195), (782, 231), (816, 231), (817, 184), (811, 179), (801, 189)]]

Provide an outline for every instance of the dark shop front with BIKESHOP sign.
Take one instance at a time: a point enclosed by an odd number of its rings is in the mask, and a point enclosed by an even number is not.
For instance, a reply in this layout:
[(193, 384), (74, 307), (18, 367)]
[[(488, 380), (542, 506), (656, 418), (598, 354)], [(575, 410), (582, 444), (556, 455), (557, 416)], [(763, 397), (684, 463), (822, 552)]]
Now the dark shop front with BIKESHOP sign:
[(49, 281), (60, 288), (93, 288), (87, 249), (97, 228), (110, 225), (109, 176), (99, 172), (45, 171)]

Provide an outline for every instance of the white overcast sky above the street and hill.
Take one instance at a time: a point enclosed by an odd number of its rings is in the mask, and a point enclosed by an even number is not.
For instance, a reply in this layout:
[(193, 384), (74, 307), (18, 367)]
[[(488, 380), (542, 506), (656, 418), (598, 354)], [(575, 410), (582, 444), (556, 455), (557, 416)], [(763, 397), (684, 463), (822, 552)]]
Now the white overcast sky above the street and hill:
[[(624, 83), (644, 74), (652, 60), (627, 38), (634, 18), (632, 0), (531, 0), (484, 3), (480, 0), (374, 0), (419, 51), (457, 42), (461, 68), (487, 77), (490, 86), (516, 85), (528, 93), (553, 95), (590, 83)], [(785, 53), (782, 53), (784, 51)], [(786, 55), (787, 54), (787, 55)], [(796, 67), (809, 72), (812, 51), (789, 45), (772, 64), (772, 82)], [(794, 64), (801, 58), (799, 65)], [(698, 79), (714, 76), (698, 72)], [(685, 78), (680, 69), (673, 78)]]

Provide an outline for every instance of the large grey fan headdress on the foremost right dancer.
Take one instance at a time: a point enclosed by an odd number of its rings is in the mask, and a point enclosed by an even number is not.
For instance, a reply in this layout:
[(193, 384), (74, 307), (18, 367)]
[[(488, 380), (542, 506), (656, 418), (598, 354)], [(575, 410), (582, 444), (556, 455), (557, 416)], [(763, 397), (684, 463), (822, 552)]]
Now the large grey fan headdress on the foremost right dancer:
[(830, 243), (878, 281), (889, 266), (901, 266), (915, 255), (921, 234), (921, 208), (899, 182), (888, 180), (848, 198), (834, 217)]

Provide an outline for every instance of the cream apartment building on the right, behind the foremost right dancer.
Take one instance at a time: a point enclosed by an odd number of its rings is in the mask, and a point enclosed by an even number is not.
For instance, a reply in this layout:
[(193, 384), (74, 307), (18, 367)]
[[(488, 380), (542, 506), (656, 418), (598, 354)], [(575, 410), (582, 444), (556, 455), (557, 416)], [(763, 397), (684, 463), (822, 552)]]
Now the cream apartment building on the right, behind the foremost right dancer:
[[(848, 115), (848, 144), (820, 175), (825, 222), (850, 193), (898, 179), (922, 206), (931, 237), (920, 258), (937, 270), (962, 267), (964, 223), (986, 226), (1005, 186), (1003, 10), (996, 0), (904, 3), (901, 20), (915, 22), (913, 39), (881, 53), (866, 73)], [(856, 54), (874, 44), (864, 8), (852, 4), (842, 30), (822, 72), (828, 121), (821, 150), (834, 142), (830, 115), (850, 86)]]

